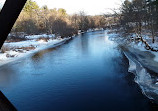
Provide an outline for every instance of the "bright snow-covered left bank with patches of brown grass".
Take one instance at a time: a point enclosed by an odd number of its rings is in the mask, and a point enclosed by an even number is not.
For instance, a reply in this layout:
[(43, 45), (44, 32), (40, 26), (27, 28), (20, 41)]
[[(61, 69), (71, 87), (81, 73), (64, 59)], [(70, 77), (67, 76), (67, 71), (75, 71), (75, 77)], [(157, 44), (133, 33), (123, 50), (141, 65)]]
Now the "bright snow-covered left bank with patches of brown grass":
[(4, 43), (3, 47), (7, 47), (9, 50), (0, 53), (0, 66), (33, 54), (37, 51), (62, 45), (71, 39), (70, 37), (64, 39), (49, 39), (47, 41), (41, 39), (37, 41), (39, 37), (40, 35), (29, 36), (30, 39), (26, 41)]

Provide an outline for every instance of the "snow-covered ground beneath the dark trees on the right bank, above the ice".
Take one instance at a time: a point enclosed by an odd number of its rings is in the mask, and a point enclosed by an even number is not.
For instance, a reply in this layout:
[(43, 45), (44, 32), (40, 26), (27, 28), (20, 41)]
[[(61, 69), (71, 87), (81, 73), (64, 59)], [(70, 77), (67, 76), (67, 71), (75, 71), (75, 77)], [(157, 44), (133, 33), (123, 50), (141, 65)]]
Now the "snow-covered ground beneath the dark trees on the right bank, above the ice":
[[(115, 33), (115, 30), (110, 30), (108, 32), (109, 38), (111, 40), (125, 46), (126, 48), (134, 48), (143, 52), (153, 54), (154, 61), (158, 62), (158, 51), (147, 50), (145, 43), (140, 40), (140, 37), (138, 35), (129, 34), (127, 36), (124, 36), (122, 33)], [(158, 50), (158, 37), (155, 37), (155, 43), (152, 43), (152, 38), (148, 35), (142, 34), (142, 38), (153, 50)]]

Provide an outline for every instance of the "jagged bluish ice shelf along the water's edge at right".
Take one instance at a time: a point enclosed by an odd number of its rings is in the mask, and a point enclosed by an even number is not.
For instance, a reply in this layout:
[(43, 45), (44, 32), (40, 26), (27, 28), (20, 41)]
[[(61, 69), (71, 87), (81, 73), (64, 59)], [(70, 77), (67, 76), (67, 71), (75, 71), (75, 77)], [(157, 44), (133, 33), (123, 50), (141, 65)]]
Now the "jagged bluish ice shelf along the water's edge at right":
[(132, 56), (124, 52), (125, 56), (129, 60), (129, 72), (135, 74), (135, 82), (140, 86), (144, 95), (149, 99), (156, 100), (158, 102), (158, 85), (154, 83), (154, 79), (151, 74)]

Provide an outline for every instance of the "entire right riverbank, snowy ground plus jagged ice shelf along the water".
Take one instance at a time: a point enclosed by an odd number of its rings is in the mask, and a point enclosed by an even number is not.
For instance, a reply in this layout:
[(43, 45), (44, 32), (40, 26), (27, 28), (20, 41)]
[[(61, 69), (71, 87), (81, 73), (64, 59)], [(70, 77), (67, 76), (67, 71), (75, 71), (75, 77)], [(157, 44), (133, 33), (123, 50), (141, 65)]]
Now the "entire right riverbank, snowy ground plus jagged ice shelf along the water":
[[(135, 74), (135, 82), (140, 86), (144, 95), (158, 103), (158, 52), (147, 50), (139, 38), (122, 37), (121, 34), (109, 33), (109, 39), (118, 43), (129, 60), (128, 71)], [(144, 37), (153, 48), (150, 38)]]

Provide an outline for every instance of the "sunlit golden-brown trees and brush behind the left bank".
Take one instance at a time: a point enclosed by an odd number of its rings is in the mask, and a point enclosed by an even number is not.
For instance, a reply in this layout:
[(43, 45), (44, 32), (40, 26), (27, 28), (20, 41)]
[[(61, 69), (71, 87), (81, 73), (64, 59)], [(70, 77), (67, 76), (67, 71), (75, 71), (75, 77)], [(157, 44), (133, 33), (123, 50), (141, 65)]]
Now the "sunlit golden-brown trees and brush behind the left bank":
[(36, 2), (28, 0), (12, 33), (47, 33), (67, 37), (77, 34), (78, 30), (84, 32), (88, 29), (104, 27), (104, 15), (90, 16), (86, 15), (84, 11), (68, 15), (65, 9), (49, 9), (46, 5), (39, 7)]

